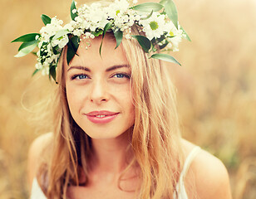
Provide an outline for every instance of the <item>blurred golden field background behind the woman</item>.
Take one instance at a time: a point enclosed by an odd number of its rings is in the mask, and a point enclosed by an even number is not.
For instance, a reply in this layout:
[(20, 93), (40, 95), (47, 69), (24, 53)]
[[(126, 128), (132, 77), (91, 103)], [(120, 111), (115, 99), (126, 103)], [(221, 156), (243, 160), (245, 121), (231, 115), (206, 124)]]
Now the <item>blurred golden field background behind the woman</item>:
[[(78, 3), (86, 2), (79, 0)], [(176, 0), (184, 41), (170, 66), (185, 138), (220, 158), (235, 199), (256, 198), (256, 1)], [(40, 15), (69, 21), (71, 1), (1, 0), (0, 198), (25, 199), (27, 150), (38, 130), (27, 109), (54, 86), (31, 77), (34, 56), (13, 57), (17, 36), (39, 32)]]

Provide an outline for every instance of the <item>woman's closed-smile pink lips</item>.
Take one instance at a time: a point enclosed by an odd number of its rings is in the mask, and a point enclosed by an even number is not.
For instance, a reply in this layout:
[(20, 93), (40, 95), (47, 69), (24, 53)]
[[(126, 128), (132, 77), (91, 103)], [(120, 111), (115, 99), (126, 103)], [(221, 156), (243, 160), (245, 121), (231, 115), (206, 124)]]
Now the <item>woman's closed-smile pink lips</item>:
[[(100, 111), (91, 111), (86, 114), (87, 119), (89, 119), (92, 123), (95, 124), (106, 124), (110, 123), (113, 119), (116, 119), (118, 112), (111, 112), (108, 110), (100, 110)], [(97, 115), (104, 115), (99, 118)]]

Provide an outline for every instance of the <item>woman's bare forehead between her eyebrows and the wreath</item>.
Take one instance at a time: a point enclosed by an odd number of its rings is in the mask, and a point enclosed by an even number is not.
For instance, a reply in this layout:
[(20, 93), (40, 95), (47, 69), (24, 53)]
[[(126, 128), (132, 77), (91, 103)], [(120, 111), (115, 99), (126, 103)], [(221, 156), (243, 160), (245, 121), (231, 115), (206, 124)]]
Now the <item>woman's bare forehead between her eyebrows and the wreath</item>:
[[(86, 66), (90, 68), (105, 68), (108, 66), (128, 65), (123, 47), (116, 47), (116, 40), (113, 36), (106, 34), (103, 39), (100, 55), (102, 38), (82, 39), (76, 54), (70, 65), (65, 64), (66, 70), (71, 66)], [(65, 61), (66, 62), (66, 61)]]

